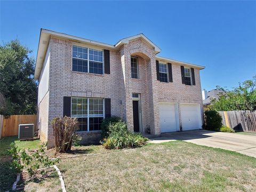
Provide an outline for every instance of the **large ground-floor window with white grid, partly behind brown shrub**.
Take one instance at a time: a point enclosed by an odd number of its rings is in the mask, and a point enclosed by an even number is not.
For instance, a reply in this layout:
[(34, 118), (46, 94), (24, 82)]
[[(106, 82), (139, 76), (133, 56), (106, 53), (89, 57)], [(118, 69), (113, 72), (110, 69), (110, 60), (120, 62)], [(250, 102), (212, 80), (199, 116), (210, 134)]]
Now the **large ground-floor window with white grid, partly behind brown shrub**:
[(97, 131), (103, 120), (103, 99), (71, 98), (71, 117), (78, 119), (77, 131)]

